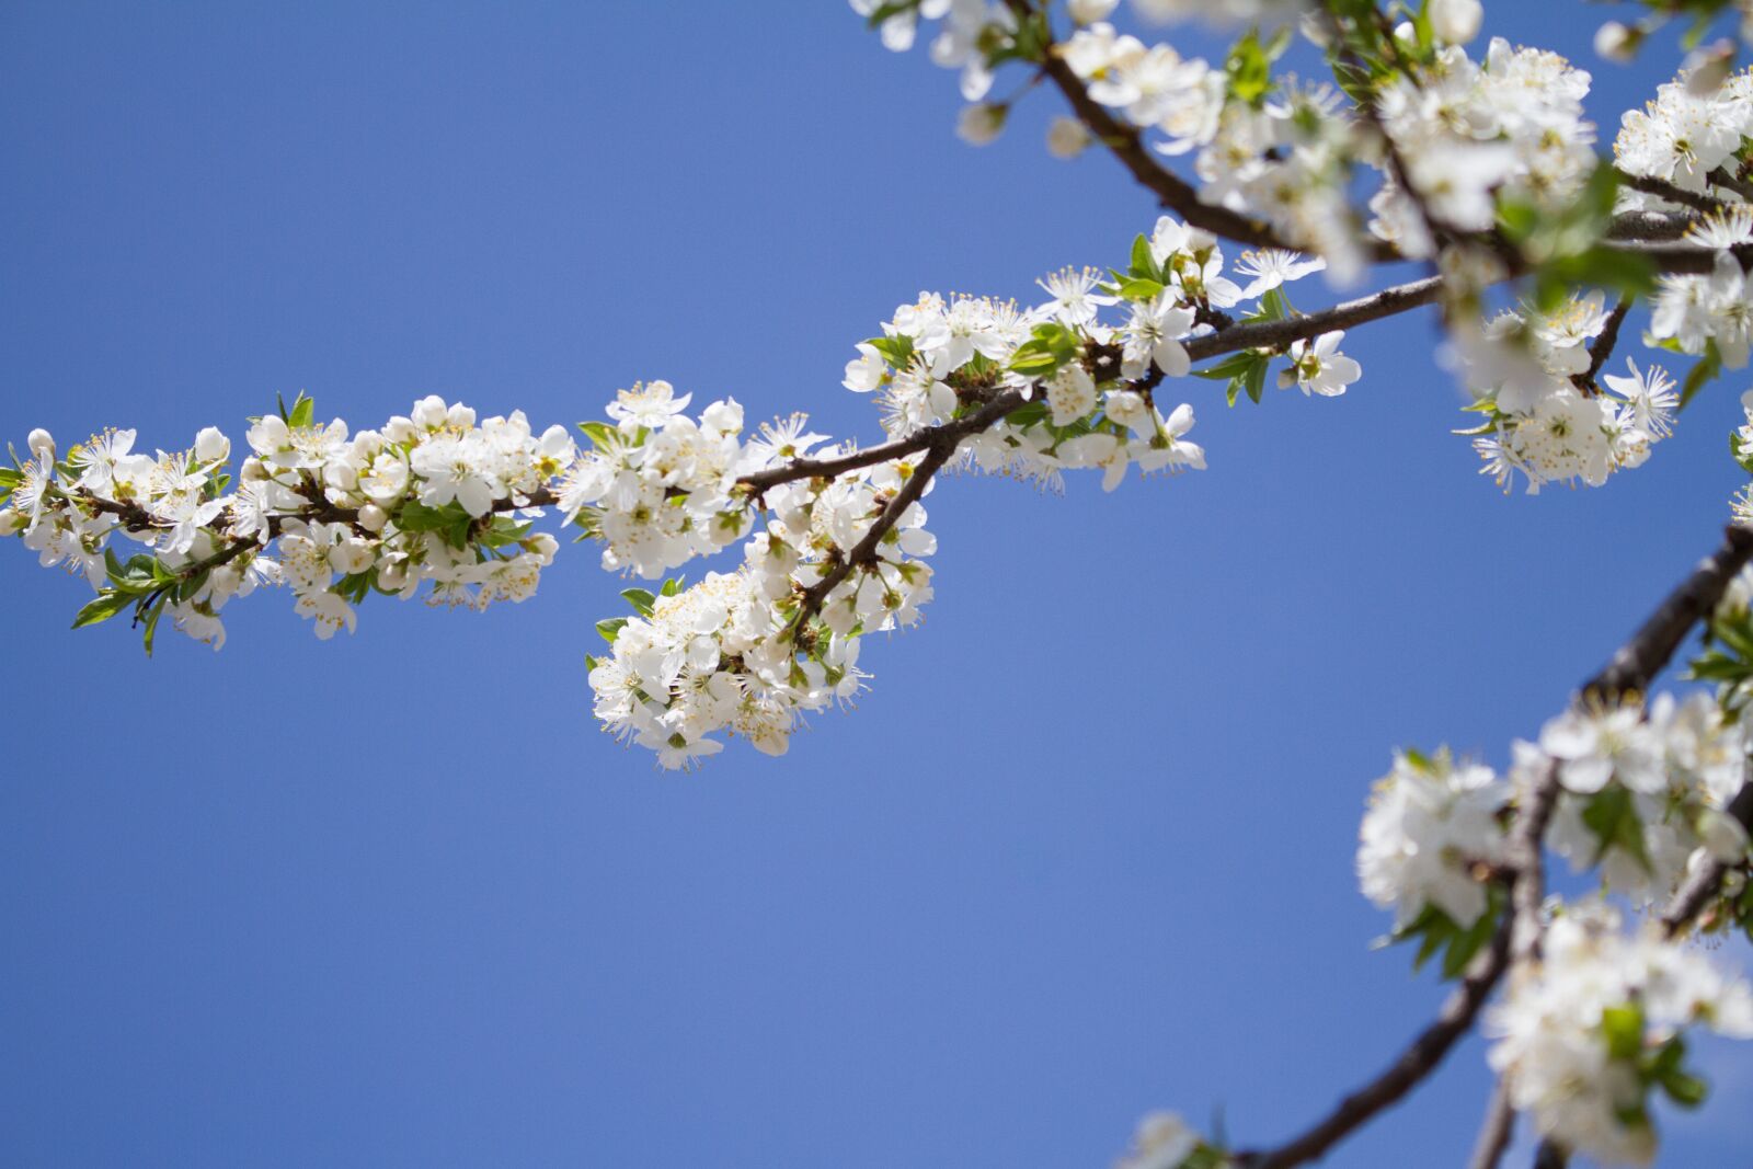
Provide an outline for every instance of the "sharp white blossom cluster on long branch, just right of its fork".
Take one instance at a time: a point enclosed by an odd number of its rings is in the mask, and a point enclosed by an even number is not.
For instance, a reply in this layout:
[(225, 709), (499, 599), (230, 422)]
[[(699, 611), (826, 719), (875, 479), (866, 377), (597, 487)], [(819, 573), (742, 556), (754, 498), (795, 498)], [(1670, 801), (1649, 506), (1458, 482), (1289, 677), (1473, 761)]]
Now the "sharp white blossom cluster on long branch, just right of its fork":
[[(1062, 470), (1097, 468), (1111, 491), (1131, 466), (1145, 473), (1204, 466), (1204, 452), (1185, 440), (1192, 407), (1164, 415), (1152, 387), (1190, 372), (1187, 342), (1210, 335), (1210, 321), (1225, 308), (1260, 301), (1250, 319), (1281, 314), (1283, 286), (1322, 266), (1262, 251), (1243, 252), (1229, 270), (1215, 237), (1164, 216), (1136, 240), (1125, 275), (1110, 280), (1092, 268), (1064, 268), (1040, 280), (1048, 300), (1033, 308), (922, 293), (896, 308), (882, 337), (857, 347), (843, 384), (876, 396), (892, 438), (952, 421), (968, 394), (1015, 391), (1029, 405), (966, 440), (968, 463), (1048, 484)], [(1338, 352), (1341, 338), (1334, 331), (1294, 342), (1280, 386), (1345, 393), (1362, 370)], [(1253, 370), (1257, 391), (1267, 361), (1269, 354), (1248, 352), (1227, 365), (1238, 384), (1243, 370)]]

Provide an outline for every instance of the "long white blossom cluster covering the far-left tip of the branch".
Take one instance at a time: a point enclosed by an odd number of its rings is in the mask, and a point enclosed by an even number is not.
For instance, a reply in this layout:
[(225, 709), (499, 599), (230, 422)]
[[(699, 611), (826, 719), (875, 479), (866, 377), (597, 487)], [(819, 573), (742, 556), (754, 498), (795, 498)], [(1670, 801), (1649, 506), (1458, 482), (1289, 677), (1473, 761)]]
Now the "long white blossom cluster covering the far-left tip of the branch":
[[(426, 398), (408, 417), (349, 435), (338, 419), (316, 422), (302, 398), (258, 419), (247, 442), (233, 480), (231, 443), (214, 428), (189, 450), (154, 456), (133, 450), (133, 431), (105, 431), (63, 461), (37, 431), (32, 459), (5, 475), (0, 533), (89, 580), (98, 599), (81, 624), (135, 606), (149, 636), (168, 613), (214, 648), (219, 612), (265, 584), (287, 585), (330, 638), (354, 629), (354, 606), (373, 591), (408, 598), (429, 582), (438, 603), (522, 601), (557, 550), (512, 514), (540, 515), (570, 468), (563, 428), (535, 435), (522, 414), (477, 426), (468, 407)], [(117, 559), (117, 533), (142, 552)]]

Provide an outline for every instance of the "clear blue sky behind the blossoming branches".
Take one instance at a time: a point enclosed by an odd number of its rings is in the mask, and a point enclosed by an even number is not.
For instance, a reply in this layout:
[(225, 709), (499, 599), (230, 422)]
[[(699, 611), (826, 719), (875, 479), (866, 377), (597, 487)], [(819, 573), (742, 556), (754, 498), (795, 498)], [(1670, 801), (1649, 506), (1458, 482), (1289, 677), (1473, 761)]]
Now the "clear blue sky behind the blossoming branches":
[[(1490, 4), (1597, 74), (1600, 7)], [(1183, 39), (1189, 40), (1189, 39)], [(871, 440), (852, 344), (920, 287), (1031, 296), (1153, 209), (983, 151), (950, 74), (812, 4), (7, 4), (0, 433), (242, 436), (309, 389), (571, 422), (640, 377)], [(1334, 296), (1302, 286), (1299, 307)], [(0, 1162), (1104, 1165), (1150, 1108), (1288, 1134), (1439, 999), (1352, 852), (1399, 743), (1502, 762), (1714, 542), (1720, 384), (1643, 470), (1504, 498), (1429, 315), (1341, 400), (1227, 410), (1211, 470), (934, 494), (927, 624), (850, 715), (661, 775), (589, 720), (621, 582), (487, 615), (279, 596), (221, 655), (72, 633), (0, 549)], [(1741, 950), (1732, 950), (1741, 955)], [(1739, 1164), (1707, 1048), (1676, 1165)], [(1469, 1043), (1334, 1165), (1458, 1164)], [(1737, 1106), (1739, 1104), (1739, 1106)]]

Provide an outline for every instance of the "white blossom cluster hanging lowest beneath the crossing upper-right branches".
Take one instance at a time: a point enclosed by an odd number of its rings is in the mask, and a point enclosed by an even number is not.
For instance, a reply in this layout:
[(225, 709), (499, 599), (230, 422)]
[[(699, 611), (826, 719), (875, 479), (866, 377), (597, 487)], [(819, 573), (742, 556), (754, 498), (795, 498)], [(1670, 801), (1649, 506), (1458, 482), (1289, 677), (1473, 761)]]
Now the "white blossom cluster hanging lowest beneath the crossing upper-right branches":
[(1639, 466), (1672, 433), (1679, 407), (1674, 379), (1660, 366), (1593, 382), (1588, 342), (1609, 312), (1600, 293), (1571, 296), (1551, 312), (1502, 312), (1478, 329), (1455, 333), (1460, 373), (1485, 415), (1473, 435), (1483, 473), (1509, 487), (1515, 473), (1530, 492), (1543, 484), (1583, 480), (1599, 487), (1613, 471)]

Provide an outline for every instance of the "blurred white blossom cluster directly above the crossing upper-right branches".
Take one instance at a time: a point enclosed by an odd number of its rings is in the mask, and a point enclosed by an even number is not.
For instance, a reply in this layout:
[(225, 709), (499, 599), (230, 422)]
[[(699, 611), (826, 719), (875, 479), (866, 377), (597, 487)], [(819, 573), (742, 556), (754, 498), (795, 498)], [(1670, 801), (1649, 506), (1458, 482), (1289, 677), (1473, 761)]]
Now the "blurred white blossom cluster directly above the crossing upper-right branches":
[(1483, 61), (1448, 46), (1416, 79), (1394, 77), (1378, 110), (1418, 200), (1390, 174), (1371, 200), (1371, 230), (1408, 256), (1432, 256), (1425, 214), (1439, 230), (1469, 233), (1495, 224), (1501, 200), (1567, 203), (1597, 161), (1595, 126), (1583, 117), (1588, 82), (1557, 53), (1501, 37)]

